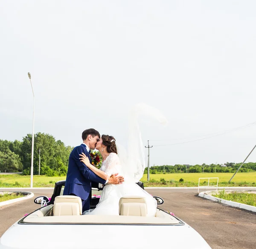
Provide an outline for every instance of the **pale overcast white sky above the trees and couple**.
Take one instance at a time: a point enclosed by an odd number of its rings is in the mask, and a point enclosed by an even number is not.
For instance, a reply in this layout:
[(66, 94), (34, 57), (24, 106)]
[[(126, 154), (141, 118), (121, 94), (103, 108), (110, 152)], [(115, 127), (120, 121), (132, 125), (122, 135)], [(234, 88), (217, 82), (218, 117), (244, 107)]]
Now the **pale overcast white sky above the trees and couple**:
[(255, 9), (253, 0), (2, 0), (0, 139), (32, 133), (30, 72), (35, 133), (76, 146), (93, 127), (125, 145), (129, 110), (145, 103), (168, 120), (140, 116), (150, 166), (242, 162), (256, 144)]

